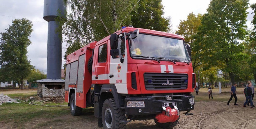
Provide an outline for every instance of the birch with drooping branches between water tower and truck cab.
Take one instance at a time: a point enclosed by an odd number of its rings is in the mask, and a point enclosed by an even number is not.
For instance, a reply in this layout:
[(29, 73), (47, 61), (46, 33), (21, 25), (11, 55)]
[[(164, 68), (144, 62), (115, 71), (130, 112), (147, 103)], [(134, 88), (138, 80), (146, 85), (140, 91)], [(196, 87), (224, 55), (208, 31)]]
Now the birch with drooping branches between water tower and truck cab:
[[(72, 13), (67, 19), (57, 18), (66, 36), (66, 55), (92, 41), (130, 24), (130, 13), (140, 0), (64, 0)], [(73, 45), (74, 44), (74, 45)]]

